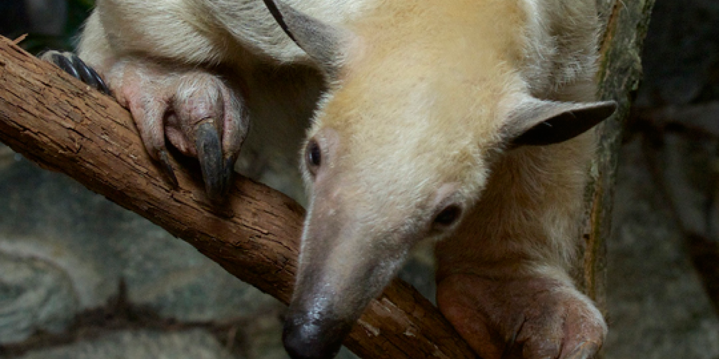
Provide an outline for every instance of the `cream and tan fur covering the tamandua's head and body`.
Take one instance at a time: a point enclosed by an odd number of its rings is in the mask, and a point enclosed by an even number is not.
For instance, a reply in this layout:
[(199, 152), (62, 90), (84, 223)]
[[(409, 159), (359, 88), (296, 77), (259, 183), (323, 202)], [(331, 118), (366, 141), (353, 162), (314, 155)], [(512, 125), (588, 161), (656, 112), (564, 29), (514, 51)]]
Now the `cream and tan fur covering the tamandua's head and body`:
[[(594, 134), (508, 149), (527, 129), (513, 118), (531, 118), (538, 99), (595, 100), (595, 0), (285, 2), (351, 34), (328, 86), (259, 0), (98, 0), (79, 53), (104, 74), (129, 59), (240, 79), (252, 121), (245, 171), (273, 161), (297, 168), (306, 133), (329, 148), (326, 174), (315, 179), (301, 164), (310, 213), (300, 271), (321, 262), (337, 292), (349, 292), (347, 303), (376, 295), (429, 236), (439, 241), (439, 281), (551, 279), (604, 332), (568, 274)], [(263, 178), (300, 197), (293, 183)], [(462, 223), (429, 231), (441, 201), (461, 206)], [(354, 223), (337, 225), (351, 238), (313, 243), (336, 230), (317, 224), (333, 218)], [(359, 293), (347, 281), (355, 262), (382, 256), (386, 269), (378, 266), (372, 289)]]

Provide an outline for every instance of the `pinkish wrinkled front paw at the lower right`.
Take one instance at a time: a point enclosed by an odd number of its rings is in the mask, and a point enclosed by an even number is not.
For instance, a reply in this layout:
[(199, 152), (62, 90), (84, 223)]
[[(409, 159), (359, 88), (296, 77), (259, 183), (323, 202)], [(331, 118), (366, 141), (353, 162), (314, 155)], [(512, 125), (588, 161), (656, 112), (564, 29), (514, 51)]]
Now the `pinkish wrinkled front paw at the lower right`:
[(437, 304), (484, 359), (594, 358), (607, 332), (590, 299), (540, 276), (453, 274), (439, 282)]

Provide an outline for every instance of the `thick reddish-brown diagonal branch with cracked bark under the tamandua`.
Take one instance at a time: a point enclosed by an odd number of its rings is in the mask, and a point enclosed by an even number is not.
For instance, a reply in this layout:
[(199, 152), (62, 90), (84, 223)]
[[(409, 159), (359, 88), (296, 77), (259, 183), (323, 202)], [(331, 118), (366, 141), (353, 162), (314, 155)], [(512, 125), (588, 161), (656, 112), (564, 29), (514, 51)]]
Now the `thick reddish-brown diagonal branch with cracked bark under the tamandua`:
[[(171, 189), (124, 108), (4, 37), (0, 141), (150, 219), (242, 281), (289, 301), (301, 206), (239, 176), (223, 208), (210, 205), (201, 182), (186, 171), (176, 171), (180, 186)], [(370, 304), (345, 345), (365, 358), (475, 358), (439, 311), (400, 280)]]

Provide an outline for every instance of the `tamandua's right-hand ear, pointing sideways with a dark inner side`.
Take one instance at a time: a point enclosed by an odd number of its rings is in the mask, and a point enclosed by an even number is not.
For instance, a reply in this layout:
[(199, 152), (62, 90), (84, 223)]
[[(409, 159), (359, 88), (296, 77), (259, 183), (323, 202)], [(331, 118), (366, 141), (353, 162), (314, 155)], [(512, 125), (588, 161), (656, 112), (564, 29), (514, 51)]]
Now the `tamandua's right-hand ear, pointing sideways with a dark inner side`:
[(531, 99), (510, 113), (512, 146), (544, 146), (573, 139), (612, 116), (615, 101), (566, 103)]

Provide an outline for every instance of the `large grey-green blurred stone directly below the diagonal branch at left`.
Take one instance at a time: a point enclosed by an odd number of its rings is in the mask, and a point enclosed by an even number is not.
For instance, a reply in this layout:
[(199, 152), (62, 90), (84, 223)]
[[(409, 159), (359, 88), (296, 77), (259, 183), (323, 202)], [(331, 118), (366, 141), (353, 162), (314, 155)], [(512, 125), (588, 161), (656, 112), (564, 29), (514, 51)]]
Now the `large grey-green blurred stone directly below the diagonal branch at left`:
[(121, 279), (131, 302), (178, 320), (222, 322), (277, 305), (187, 243), (68, 177), (14, 155), (0, 157), (0, 164), (3, 258), (55, 268), (74, 291), (75, 309), (104, 304)]

